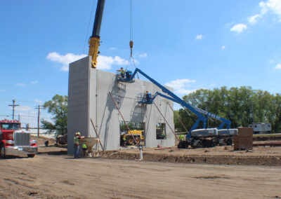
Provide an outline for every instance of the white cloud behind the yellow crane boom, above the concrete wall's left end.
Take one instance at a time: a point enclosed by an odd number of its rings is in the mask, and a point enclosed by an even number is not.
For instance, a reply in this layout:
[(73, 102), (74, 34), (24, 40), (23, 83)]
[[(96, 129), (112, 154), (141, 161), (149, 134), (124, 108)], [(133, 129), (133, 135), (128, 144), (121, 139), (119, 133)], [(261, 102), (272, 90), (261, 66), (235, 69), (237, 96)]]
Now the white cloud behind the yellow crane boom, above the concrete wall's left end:
[[(63, 66), (60, 68), (62, 71), (68, 71), (69, 64), (71, 62), (74, 62), (76, 60), (79, 60), (83, 57), (86, 57), (87, 55), (74, 55), (73, 53), (67, 53), (66, 55), (60, 55), (59, 53), (49, 53), (46, 57), (48, 60), (51, 60), (52, 62), (59, 62), (60, 64), (63, 64)], [(115, 57), (107, 57), (104, 55), (98, 56), (98, 69), (111, 69), (112, 65), (125, 65), (126, 61), (122, 59), (119, 56)]]

